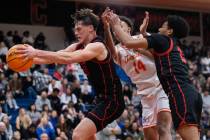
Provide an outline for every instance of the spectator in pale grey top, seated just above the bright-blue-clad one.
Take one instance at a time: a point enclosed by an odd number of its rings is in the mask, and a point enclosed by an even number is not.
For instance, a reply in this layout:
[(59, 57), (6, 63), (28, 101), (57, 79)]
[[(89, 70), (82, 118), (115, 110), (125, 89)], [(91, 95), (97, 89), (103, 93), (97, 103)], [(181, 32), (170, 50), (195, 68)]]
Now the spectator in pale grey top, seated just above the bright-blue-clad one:
[(42, 111), (42, 107), (45, 104), (48, 106), (49, 110), (52, 110), (52, 107), (51, 107), (51, 104), (50, 104), (50, 100), (47, 99), (47, 90), (43, 89), (41, 91), (41, 96), (37, 97), (37, 99), (35, 101), (36, 109), (41, 112)]

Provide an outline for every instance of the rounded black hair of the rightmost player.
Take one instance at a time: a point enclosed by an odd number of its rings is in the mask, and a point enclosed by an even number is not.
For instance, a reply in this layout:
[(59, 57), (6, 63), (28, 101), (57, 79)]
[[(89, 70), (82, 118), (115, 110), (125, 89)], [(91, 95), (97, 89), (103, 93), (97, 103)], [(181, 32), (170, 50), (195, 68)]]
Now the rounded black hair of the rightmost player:
[(173, 29), (174, 37), (181, 39), (189, 35), (190, 26), (184, 18), (177, 15), (169, 15), (167, 21), (168, 27)]

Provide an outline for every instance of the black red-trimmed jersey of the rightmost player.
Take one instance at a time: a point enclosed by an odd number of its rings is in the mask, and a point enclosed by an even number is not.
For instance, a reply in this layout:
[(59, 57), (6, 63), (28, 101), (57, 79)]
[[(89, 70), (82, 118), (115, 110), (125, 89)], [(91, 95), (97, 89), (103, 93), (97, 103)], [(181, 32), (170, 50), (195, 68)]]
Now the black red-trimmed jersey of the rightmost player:
[(149, 48), (154, 49), (155, 64), (160, 82), (166, 93), (191, 87), (187, 61), (178, 40), (160, 34), (147, 38)]

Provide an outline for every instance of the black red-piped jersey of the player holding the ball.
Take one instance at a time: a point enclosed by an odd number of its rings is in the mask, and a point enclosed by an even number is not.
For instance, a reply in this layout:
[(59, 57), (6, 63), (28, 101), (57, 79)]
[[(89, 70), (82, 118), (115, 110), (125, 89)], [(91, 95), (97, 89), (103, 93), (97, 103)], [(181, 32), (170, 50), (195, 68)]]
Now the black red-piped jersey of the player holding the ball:
[[(91, 41), (91, 43), (93, 42), (103, 43), (103, 40), (100, 37), (96, 37)], [(84, 49), (84, 47), (85, 46), (80, 44), (78, 45), (77, 50)], [(110, 95), (112, 96), (114, 94), (116, 95), (117, 93), (121, 93), (121, 82), (115, 72), (114, 61), (109, 50), (105, 60), (98, 61), (96, 59), (92, 59), (86, 62), (81, 62), (80, 66), (87, 75), (88, 80), (97, 95), (101, 95), (103, 98), (106, 98)]]

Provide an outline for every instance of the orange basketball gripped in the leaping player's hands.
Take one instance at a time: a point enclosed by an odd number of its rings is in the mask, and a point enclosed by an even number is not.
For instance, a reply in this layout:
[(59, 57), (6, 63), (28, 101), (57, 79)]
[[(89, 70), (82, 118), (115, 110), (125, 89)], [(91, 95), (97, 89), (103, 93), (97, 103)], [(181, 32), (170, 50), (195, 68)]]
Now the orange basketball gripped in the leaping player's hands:
[(10, 48), (6, 57), (9, 68), (16, 72), (27, 71), (33, 65), (33, 59), (24, 60), (24, 58), (17, 58), (15, 50), (22, 45), (17, 44)]

